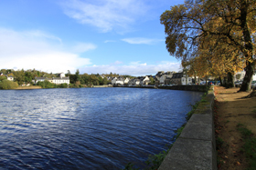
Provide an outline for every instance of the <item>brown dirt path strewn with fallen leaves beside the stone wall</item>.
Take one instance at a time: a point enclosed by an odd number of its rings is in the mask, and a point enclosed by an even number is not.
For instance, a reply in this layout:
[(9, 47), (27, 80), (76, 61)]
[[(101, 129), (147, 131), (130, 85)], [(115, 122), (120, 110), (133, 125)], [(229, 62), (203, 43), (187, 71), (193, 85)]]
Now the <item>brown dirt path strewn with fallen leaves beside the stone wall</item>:
[(219, 169), (246, 169), (247, 159), (240, 150), (243, 145), (238, 124), (245, 125), (256, 134), (256, 97), (248, 92), (238, 93), (239, 88), (215, 86), (216, 138), (222, 139), (218, 147)]

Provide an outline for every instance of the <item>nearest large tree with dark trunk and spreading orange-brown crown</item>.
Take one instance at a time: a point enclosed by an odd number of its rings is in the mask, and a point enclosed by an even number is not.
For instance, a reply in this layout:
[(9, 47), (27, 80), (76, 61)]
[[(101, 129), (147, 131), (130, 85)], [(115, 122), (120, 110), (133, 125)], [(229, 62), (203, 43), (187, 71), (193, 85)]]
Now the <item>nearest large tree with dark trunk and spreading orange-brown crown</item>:
[(208, 53), (218, 50), (219, 45), (230, 47), (239, 55), (225, 57), (242, 57), (246, 64), (246, 75), (240, 91), (250, 90), (255, 69), (255, 1), (187, 0), (184, 5), (172, 6), (171, 10), (161, 15), (168, 52), (187, 60), (197, 56), (200, 46), (207, 44), (208, 40), (214, 40), (211, 45), (204, 46)]

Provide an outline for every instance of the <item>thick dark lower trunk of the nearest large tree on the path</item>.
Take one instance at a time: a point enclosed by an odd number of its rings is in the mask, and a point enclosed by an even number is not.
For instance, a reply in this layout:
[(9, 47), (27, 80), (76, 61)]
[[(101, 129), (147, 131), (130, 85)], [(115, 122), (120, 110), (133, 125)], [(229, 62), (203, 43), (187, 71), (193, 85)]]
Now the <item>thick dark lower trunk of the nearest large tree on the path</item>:
[(254, 74), (254, 66), (251, 62), (247, 62), (245, 67), (245, 75), (240, 87), (240, 92), (248, 92), (251, 90), (252, 75)]

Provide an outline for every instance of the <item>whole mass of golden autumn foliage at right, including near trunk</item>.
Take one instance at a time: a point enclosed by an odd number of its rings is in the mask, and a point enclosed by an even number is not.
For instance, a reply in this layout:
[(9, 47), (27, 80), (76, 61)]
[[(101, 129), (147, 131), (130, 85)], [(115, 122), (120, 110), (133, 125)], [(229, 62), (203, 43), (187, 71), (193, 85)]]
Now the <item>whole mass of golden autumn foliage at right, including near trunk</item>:
[(170, 55), (199, 76), (244, 69), (240, 91), (251, 88), (255, 69), (255, 0), (187, 0), (161, 15)]

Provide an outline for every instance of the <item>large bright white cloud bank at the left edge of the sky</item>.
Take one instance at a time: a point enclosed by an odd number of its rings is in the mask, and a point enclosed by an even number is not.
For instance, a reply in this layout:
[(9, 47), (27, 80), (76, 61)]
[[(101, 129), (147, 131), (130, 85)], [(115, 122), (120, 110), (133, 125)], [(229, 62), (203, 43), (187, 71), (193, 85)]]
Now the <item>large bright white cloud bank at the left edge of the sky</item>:
[(0, 68), (33, 69), (46, 72), (75, 71), (83, 65), (90, 65), (89, 58), (78, 53), (94, 49), (91, 44), (79, 44), (67, 51), (61, 39), (40, 31), (16, 32), (0, 28)]

